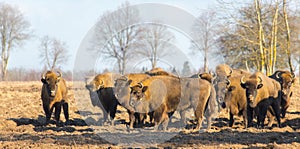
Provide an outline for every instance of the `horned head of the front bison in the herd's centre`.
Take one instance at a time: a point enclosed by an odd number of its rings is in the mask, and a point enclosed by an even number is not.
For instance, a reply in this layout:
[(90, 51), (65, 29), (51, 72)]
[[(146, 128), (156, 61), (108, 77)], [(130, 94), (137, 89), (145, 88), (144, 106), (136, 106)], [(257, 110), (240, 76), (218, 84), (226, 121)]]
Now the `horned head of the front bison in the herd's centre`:
[(130, 105), (134, 106), (138, 101), (142, 101), (145, 96), (145, 91), (148, 86), (144, 86), (142, 83), (138, 83), (135, 86), (130, 87)]

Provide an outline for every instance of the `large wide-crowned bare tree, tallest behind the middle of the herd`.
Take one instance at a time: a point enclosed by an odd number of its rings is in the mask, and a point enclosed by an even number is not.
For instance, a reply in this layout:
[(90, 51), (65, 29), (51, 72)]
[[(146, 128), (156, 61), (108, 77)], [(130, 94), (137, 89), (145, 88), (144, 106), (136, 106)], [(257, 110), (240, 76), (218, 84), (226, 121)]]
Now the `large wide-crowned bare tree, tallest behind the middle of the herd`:
[(125, 2), (113, 12), (105, 12), (95, 27), (95, 38), (92, 39), (93, 50), (106, 59), (117, 61), (119, 73), (126, 71), (127, 60), (131, 51), (138, 45), (142, 31), (138, 26), (139, 12)]

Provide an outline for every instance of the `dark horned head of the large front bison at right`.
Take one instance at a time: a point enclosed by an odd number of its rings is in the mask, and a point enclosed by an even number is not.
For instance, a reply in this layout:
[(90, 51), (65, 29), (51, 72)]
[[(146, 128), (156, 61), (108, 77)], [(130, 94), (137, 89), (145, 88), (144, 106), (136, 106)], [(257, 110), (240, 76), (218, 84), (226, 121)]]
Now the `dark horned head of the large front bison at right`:
[(241, 78), (241, 87), (246, 89), (247, 102), (250, 107), (254, 108), (257, 105), (256, 97), (258, 89), (263, 87), (262, 79), (258, 76), (256, 79), (244, 80), (244, 76)]

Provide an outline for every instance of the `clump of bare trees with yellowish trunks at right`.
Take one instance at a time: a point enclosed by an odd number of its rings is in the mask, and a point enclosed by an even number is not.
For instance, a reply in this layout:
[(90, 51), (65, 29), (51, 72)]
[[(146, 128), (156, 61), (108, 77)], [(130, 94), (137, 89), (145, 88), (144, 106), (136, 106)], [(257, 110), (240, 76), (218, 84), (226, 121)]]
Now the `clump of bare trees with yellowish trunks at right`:
[[(222, 3), (222, 6), (230, 5), (226, 9), (236, 8), (236, 10), (229, 11), (229, 15), (225, 17), (224, 20), (227, 20), (230, 28), (227, 28), (224, 36), (219, 39), (222, 53), (227, 59), (237, 59), (237, 64), (244, 63), (246, 66), (264, 71), (267, 75), (273, 73), (275, 68), (285, 68), (290, 65), (287, 33), (288, 29), (295, 33), (297, 28), (294, 26), (287, 28), (286, 20), (287, 15), (295, 18), (293, 14), (297, 13), (286, 13), (292, 9), (288, 10), (284, 6), (282, 8), (281, 2), (284, 3), (282, 0)], [(295, 20), (289, 19), (288, 21), (295, 24)], [(290, 38), (294, 39), (297, 36), (297, 34), (291, 34)]]

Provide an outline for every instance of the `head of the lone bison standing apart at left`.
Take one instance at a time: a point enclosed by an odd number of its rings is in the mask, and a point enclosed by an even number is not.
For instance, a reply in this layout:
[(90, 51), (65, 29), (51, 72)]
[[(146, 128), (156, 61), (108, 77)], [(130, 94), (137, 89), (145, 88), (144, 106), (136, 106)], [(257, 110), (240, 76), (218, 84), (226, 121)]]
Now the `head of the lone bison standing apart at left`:
[(55, 73), (53, 71), (47, 71), (46, 73), (42, 74), (41, 81), (46, 85), (48, 94), (52, 97), (56, 95), (61, 76), (62, 75), (60, 72)]

